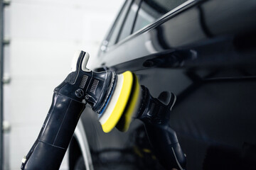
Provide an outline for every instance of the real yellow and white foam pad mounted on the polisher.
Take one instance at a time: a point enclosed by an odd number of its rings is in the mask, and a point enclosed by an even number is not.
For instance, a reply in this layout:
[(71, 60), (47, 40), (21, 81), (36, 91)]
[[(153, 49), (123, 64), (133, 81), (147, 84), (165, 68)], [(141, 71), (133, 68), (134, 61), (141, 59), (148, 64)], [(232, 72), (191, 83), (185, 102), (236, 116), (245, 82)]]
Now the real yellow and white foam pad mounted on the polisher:
[(127, 71), (117, 74), (117, 81), (112, 96), (99, 120), (104, 132), (110, 132), (121, 118), (129, 101), (133, 81), (132, 72)]

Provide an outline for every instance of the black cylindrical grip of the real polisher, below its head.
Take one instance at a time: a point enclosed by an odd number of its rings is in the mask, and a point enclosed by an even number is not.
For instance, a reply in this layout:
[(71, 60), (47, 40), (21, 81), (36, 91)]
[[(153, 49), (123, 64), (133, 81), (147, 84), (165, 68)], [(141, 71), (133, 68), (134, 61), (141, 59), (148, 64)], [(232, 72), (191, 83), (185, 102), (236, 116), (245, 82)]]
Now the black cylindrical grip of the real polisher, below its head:
[(63, 160), (85, 103), (53, 94), (50, 111), (36, 142), (23, 158), (23, 170), (57, 170)]

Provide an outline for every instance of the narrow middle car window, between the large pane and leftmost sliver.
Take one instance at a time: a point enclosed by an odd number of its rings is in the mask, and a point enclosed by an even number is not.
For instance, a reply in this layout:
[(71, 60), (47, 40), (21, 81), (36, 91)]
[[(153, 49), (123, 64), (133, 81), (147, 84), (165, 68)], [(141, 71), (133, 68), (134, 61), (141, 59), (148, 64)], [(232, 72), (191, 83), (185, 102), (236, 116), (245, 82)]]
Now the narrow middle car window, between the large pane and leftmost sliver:
[(134, 1), (132, 3), (132, 6), (129, 9), (129, 13), (127, 15), (124, 25), (122, 26), (122, 30), (120, 32), (117, 42), (123, 40), (124, 38), (127, 38), (127, 36), (129, 36), (132, 33), (132, 27), (134, 26), (134, 20), (137, 15), (139, 4), (140, 1)]

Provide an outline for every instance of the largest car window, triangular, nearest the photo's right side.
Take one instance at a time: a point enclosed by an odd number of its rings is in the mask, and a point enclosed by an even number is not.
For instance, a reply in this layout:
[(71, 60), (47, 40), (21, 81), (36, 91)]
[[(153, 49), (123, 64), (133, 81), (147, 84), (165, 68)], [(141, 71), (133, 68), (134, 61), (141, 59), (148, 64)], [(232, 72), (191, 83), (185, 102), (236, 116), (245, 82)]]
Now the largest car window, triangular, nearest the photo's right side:
[(187, 0), (144, 0), (139, 8), (132, 33), (156, 21)]

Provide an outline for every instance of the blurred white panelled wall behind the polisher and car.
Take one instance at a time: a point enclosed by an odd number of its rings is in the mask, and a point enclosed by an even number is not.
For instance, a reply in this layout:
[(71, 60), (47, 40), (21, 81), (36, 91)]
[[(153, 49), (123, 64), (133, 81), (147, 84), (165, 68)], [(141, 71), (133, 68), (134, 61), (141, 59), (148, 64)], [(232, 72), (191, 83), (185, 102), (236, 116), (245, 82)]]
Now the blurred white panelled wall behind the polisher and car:
[[(123, 2), (1, 0), (4, 169), (20, 169), (46, 118), (53, 89), (70, 71), (74, 52), (89, 52), (90, 67)], [(66, 159), (60, 169), (68, 169)]]

